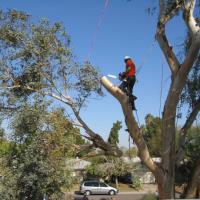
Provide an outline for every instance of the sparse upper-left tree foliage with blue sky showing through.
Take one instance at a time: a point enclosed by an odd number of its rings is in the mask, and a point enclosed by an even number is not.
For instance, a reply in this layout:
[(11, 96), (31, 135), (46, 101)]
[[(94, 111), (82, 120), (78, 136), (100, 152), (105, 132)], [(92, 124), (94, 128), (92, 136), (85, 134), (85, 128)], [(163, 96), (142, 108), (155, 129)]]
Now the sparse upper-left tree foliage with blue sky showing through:
[(82, 107), (91, 95), (102, 95), (100, 73), (90, 63), (74, 61), (70, 37), (58, 22), (33, 22), (26, 13), (1, 10), (0, 51), (4, 106), (16, 106), (35, 93), (65, 92)]

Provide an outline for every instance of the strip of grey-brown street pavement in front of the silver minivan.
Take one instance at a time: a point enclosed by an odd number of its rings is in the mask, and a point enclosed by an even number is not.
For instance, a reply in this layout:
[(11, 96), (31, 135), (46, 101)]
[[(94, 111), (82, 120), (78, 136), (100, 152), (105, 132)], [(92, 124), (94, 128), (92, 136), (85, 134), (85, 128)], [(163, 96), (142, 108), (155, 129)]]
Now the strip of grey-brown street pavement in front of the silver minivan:
[[(143, 193), (120, 193), (115, 196), (110, 195), (90, 195), (88, 197), (89, 200), (141, 200), (144, 196)], [(74, 200), (82, 200), (83, 195), (75, 195)]]

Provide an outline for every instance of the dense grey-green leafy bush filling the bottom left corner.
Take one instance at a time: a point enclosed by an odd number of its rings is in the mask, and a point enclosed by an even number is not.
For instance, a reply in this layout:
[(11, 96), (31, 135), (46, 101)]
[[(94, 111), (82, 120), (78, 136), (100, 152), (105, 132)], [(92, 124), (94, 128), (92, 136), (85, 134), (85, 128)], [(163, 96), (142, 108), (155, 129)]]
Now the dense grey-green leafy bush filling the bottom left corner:
[[(42, 138), (35, 138), (29, 145), (15, 146), (9, 155), (7, 167), (11, 176), (5, 175), (2, 181), (1, 196), (9, 194), (13, 199), (42, 199), (46, 193), (60, 199), (61, 187), (70, 186), (70, 171), (64, 170), (64, 160), (53, 159), (53, 150), (48, 152)], [(14, 179), (14, 182), (13, 182)], [(5, 198), (3, 198), (5, 199)], [(8, 198), (10, 199), (10, 198)]]

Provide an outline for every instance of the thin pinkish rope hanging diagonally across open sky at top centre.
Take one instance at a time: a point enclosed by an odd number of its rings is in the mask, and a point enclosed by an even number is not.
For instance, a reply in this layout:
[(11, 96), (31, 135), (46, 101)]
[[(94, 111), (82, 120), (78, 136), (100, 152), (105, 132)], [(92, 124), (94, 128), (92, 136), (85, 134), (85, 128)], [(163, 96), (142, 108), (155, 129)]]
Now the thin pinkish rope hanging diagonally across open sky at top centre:
[(96, 38), (97, 38), (97, 32), (100, 30), (100, 27), (102, 25), (103, 18), (104, 18), (105, 13), (106, 13), (106, 9), (108, 8), (108, 2), (109, 2), (109, 0), (105, 0), (105, 2), (104, 2), (104, 7), (103, 7), (103, 9), (100, 13), (100, 16), (99, 16), (99, 19), (98, 19), (98, 22), (97, 22), (97, 25), (96, 25), (96, 29), (93, 33), (92, 40), (91, 40), (91, 43), (90, 43), (90, 47), (89, 47), (85, 62), (89, 62), (90, 57), (92, 55), (94, 45), (95, 45), (95, 42), (96, 42)]

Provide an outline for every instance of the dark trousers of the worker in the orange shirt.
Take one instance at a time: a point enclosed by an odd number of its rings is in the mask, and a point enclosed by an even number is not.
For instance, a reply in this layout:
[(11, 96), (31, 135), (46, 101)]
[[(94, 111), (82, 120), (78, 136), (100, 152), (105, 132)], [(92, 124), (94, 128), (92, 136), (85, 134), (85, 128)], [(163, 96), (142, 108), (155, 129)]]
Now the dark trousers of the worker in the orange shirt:
[(135, 85), (135, 76), (128, 77), (122, 81), (119, 88), (127, 94), (127, 96), (131, 97), (133, 93), (133, 86)]

